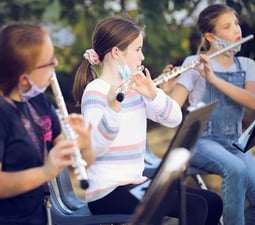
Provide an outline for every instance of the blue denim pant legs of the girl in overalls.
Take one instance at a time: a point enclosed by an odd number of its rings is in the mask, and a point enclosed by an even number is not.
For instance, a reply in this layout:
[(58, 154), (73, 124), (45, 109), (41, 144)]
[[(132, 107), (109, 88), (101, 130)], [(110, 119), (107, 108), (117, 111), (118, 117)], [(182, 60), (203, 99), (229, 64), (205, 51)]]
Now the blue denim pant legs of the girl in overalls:
[[(255, 224), (255, 160), (252, 152), (242, 153), (231, 146), (225, 149), (218, 142), (200, 138), (193, 153), (192, 167), (223, 178), (224, 225)], [(246, 209), (245, 197), (248, 201)]]

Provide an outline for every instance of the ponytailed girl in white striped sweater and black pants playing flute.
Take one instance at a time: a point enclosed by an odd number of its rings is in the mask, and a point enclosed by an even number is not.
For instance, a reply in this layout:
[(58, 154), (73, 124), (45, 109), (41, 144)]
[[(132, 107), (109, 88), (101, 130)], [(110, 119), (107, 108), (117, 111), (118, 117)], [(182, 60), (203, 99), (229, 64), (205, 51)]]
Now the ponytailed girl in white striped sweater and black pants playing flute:
[[(93, 126), (97, 154), (88, 170), (86, 190), (94, 214), (134, 211), (140, 200), (130, 189), (147, 180), (143, 176), (147, 119), (169, 128), (182, 120), (179, 105), (153, 84), (149, 70), (145, 74), (137, 70), (144, 60), (142, 47), (143, 28), (125, 18), (108, 17), (95, 27), (93, 49), (85, 51), (75, 77), (74, 96)], [(100, 76), (92, 68), (97, 64)], [(119, 89), (123, 101), (116, 99)], [(168, 215), (179, 217), (177, 190), (175, 194), (169, 199)], [(188, 188), (187, 205), (188, 224), (209, 224), (205, 223), (208, 215), (212, 215), (210, 224), (217, 224), (222, 206), (216, 194)]]

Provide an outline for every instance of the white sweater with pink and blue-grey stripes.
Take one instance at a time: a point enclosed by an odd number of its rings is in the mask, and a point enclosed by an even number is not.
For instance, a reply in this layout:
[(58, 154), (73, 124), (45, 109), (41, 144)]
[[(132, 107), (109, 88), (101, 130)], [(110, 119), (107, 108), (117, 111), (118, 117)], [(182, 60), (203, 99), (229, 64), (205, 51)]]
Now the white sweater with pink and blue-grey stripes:
[(88, 201), (102, 198), (120, 185), (146, 179), (142, 174), (147, 119), (167, 127), (176, 127), (182, 120), (179, 105), (161, 89), (153, 100), (130, 91), (120, 112), (115, 112), (108, 106), (109, 88), (108, 83), (96, 79), (87, 85), (82, 97), (82, 114), (92, 124), (92, 143), (97, 154), (88, 170)]

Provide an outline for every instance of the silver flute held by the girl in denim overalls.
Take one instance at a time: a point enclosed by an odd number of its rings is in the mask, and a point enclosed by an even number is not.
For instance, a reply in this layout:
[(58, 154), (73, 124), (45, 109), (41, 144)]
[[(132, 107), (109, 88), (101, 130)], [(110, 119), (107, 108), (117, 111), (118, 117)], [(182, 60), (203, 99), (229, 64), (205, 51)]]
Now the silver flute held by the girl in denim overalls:
[[(253, 35), (249, 35), (245, 38), (242, 38), (240, 41), (237, 41), (217, 52), (214, 52), (213, 54), (209, 55), (208, 58), (209, 59), (212, 59), (214, 58), (215, 56), (218, 56), (232, 48), (235, 48), (236, 46), (239, 46), (241, 45), (242, 43), (244, 42), (247, 42), (249, 40), (251, 40), (253, 38)], [(190, 70), (190, 69), (193, 69), (195, 68), (198, 64), (200, 63), (199, 60), (195, 60), (195, 61), (192, 61), (191, 63), (188, 63), (186, 65), (183, 65), (183, 66), (179, 66), (179, 67), (175, 67), (172, 71), (170, 71), (169, 73), (163, 73), (161, 75), (159, 75), (156, 79), (153, 80), (153, 83), (158, 86), (159, 84), (163, 83), (163, 82), (167, 82), (168, 80), (180, 75), (181, 73), (183, 72), (186, 72), (187, 70)]]

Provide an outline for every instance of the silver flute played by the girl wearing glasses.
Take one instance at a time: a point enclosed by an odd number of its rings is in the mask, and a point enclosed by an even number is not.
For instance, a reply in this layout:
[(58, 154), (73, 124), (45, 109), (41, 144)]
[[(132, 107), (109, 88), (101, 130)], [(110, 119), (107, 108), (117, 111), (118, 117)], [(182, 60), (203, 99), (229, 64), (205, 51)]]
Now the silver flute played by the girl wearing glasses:
[[(66, 119), (68, 117), (68, 111), (66, 108), (66, 104), (57, 80), (57, 76), (55, 73), (52, 74), (51, 76), (51, 88), (53, 91), (53, 94), (56, 98), (56, 103), (57, 103), (57, 114), (59, 117), (59, 121), (62, 127), (62, 132), (64, 133), (65, 139), (66, 140), (76, 140), (77, 134), (75, 131), (72, 129), (71, 125), (66, 122)], [(86, 165), (87, 162), (82, 158), (81, 156), (81, 151), (78, 147), (75, 147), (75, 152), (73, 154), (73, 168), (74, 168), (74, 173), (76, 174), (77, 180), (80, 181), (80, 186), (82, 189), (86, 189), (89, 186), (88, 182), (88, 176), (87, 176), (87, 171), (86, 171)]]

